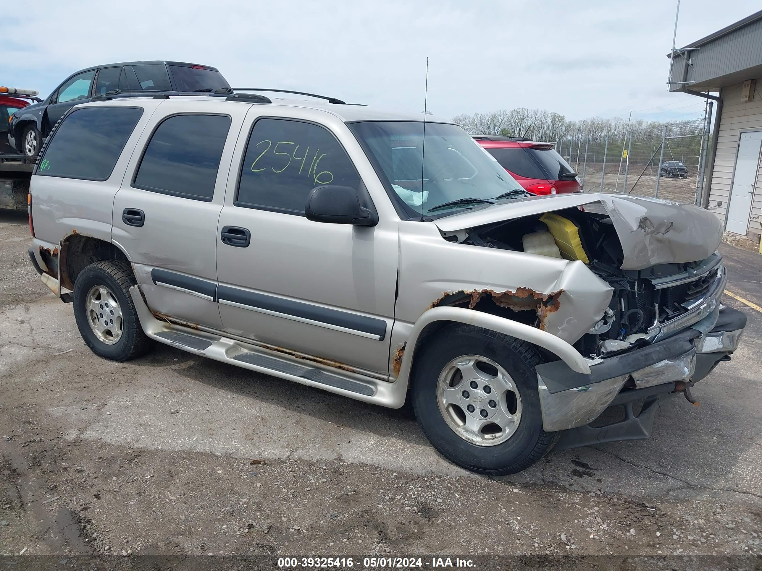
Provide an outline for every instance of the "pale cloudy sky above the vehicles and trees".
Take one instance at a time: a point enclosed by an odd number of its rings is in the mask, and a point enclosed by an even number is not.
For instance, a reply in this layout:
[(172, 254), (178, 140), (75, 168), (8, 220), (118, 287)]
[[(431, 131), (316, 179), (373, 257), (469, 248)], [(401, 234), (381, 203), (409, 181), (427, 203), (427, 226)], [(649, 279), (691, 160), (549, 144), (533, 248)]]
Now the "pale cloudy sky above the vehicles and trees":
[[(171, 59), (213, 65), (234, 87), (311, 91), (452, 117), (539, 107), (568, 119), (700, 116), (667, 91), (677, 0), (33, 0), (4, 10), (0, 85), (53, 88), (78, 69)], [(75, 8), (76, 6), (76, 8)], [(683, 0), (682, 46), (759, 0)]]

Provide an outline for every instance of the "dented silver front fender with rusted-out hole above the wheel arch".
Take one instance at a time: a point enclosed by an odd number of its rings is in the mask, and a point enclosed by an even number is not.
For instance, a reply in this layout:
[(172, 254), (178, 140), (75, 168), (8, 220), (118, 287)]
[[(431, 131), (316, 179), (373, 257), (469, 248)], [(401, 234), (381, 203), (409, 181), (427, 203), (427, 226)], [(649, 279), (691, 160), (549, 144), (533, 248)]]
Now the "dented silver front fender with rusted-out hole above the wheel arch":
[(603, 317), (613, 288), (581, 261), (458, 244), (437, 227), (400, 222), (395, 319), (413, 324), (427, 309), (476, 308), (489, 296), (516, 317), (574, 343)]

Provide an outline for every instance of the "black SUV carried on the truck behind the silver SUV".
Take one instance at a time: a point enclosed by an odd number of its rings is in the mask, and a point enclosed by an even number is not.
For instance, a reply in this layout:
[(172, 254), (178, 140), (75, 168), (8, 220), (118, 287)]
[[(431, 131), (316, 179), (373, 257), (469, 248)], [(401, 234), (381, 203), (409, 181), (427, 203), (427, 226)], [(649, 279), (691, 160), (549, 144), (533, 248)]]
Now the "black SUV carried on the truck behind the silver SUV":
[(14, 113), (8, 140), (18, 152), (28, 157), (37, 155), (50, 129), (66, 111), (108, 91), (193, 92), (229, 87), (223, 75), (209, 65), (166, 61), (94, 65), (69, 75), (44, 101)]

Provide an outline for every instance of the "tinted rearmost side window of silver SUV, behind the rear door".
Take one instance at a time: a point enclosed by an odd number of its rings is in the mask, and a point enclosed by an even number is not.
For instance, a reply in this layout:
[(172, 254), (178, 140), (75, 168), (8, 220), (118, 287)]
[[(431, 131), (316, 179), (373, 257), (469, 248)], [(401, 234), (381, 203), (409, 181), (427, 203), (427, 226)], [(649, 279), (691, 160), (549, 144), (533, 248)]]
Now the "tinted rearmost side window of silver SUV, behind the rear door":
[(73, 111), (45, 148), (37, 174), (107, 180), (141, 115), (140, 107), (85, 107)]

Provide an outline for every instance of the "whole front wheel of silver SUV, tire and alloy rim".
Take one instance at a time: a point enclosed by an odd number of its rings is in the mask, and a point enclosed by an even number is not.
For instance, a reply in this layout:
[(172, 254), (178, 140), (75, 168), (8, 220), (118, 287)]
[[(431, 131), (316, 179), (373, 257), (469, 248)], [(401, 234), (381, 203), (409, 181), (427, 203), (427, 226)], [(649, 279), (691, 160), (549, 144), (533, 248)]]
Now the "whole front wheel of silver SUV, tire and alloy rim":
[(416, 359), (411, 401), (429, 442), (467, 470), (514, 474), (543, 457), (561, 432), (543, 430), (537, 349), (467, 324), (438, 331)]

